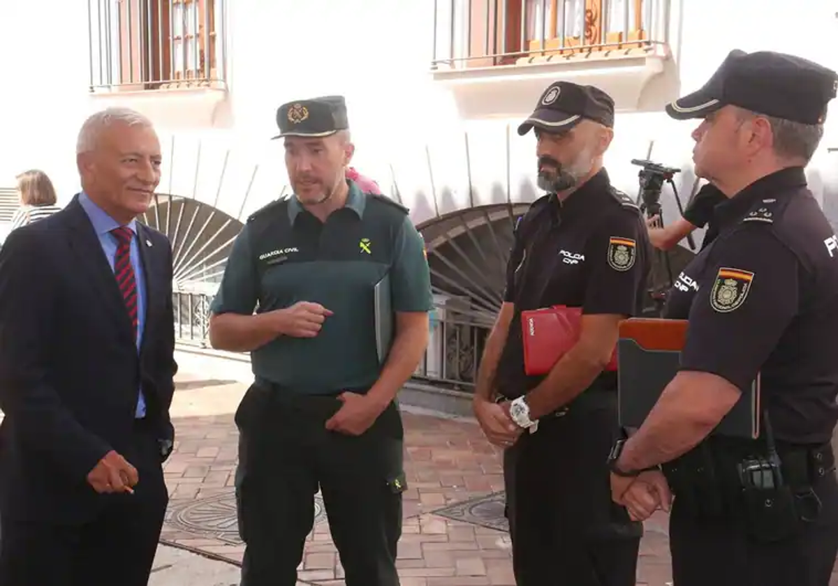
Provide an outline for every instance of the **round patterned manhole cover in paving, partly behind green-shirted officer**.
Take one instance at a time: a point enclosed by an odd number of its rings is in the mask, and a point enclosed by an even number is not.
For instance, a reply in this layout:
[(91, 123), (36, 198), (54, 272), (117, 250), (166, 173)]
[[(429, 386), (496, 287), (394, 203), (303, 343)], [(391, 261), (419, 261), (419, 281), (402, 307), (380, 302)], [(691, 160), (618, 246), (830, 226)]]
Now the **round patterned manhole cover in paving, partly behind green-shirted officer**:
[[(207, 496), (195, 501), (170, 501), (167, 525), (197, 537), (241, 543), (236, 520), (235, 492)], [(320, 496), (314, 497), (314, 523), (323, 522), (326, 511)]]

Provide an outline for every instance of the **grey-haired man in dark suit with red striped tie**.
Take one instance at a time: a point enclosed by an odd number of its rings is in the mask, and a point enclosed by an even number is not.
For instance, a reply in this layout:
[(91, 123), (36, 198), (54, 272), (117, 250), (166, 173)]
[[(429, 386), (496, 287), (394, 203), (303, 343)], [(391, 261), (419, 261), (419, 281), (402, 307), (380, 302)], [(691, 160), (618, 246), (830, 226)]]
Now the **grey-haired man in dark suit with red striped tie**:
[(147, 584), (172, 449), (172, 253), (151, 122), (85, 121), (82, 193), (0, 251), (0, 584)]

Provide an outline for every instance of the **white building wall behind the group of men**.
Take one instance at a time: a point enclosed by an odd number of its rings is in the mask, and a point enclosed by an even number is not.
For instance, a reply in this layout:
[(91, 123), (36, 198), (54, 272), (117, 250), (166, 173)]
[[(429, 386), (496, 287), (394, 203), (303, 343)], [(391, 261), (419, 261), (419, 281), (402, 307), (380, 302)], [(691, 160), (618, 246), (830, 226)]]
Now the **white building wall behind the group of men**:
[[(530, 197), (518, 186), (531, 179), (532, 138), (520, 139), (512, 133), (507, 177), (506, 126), (515, 121), (460, 121), (451, 96), (432, 81), (429, 0), (228, 3), (228, 100), (215, 118), (215, 128), (178, 127), (177, 108), (186, 107), (178, 104), (172, 104), (168, 116), (158, 120), (167, 155), (161, 189), (194, 195), (233, 215), (240, 210), (245, 215), (277, 197), (285, 180), (281, 153), (267, 141), (275, 131), (277, 105), (340, 93), (349, 102), (357, 166), (385, 185), (393, 180), (392, 166), (405, 203), (415, 208), (417, 222), (431, 219), (440, 204), (457, 207), (468, 201), (466, 130), (470, 132), (475, 201)], [(701, 85), (733, 48), (792, 50), (838, 68), (838, 51), (831, 40), (838, 32), (835, 2), (673, 3), (678, 33), (673, 52), (683, 91)], [(62, 200), (75, 193), (75, 132), (89, 112), (106, 103), (91, 98), (87, 90), (86, 7), (86, 0), (0, 3), (0, 76), (5, 84), (0, 109), (0, 186), (11, 187), (14, 174), (24, 168), (40, 167), (54, 178)], [(47, 12), (50, 18), (44, 18)], [(649, 91), (656, 90), (660, 88), (650, 85)], [(135, 97), (121, 100), (125, 105), (137, 103)], [(825, 157), (827, 146), (838, 146), (835, 120), (828, 124), (824, 154), (813, 165), (820, 171), (813, 181), (819, 194), (822, 182), (838, 180), (835, 157), (831, 161)], [(617, 139), (609, 159), (618, 185), (630, 193), (636, 191), (637, 168), (628, 160), (645, 157), (650, 140), (655, 141), (654, 158), (688, 170), (691, 127), (689, 122), (670, 121), (660, 113), (618, 115)], [(242, 206), (256, 165), (251, 195)], [(508, 181), (513, 193), (493, 192), (498, 186), (505, 190)], [(691, 187), (689, 173), (685, 173), (685, 184)], [(450, 193), (442, 193), (446, 186)]]

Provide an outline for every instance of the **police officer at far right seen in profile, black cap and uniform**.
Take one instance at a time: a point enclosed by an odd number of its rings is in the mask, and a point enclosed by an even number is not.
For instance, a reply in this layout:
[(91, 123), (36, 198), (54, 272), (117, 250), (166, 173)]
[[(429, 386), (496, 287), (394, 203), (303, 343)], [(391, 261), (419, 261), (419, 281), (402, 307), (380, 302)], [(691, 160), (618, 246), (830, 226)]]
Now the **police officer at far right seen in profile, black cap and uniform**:
[[(689, 319), (680, 372), (611, 465), (614, 498), (642, 518), (655, 500), (666, 506), (668, 487), (659, 472), (634, 476), (670, 462), (675, 586), (830, 583), (838, 251), (804, 167), (836, 84), (805, 59), (733, 51), (701, 90), (667, 106), (701, 119), (696, 175), (729, 199), (716, 240), (684, 270), (695, 286), (668, 301), (668, 317)], [(708, 437), (758, 373), (761, 437)], [(706, 464), (691, 464), (698, 457)]]

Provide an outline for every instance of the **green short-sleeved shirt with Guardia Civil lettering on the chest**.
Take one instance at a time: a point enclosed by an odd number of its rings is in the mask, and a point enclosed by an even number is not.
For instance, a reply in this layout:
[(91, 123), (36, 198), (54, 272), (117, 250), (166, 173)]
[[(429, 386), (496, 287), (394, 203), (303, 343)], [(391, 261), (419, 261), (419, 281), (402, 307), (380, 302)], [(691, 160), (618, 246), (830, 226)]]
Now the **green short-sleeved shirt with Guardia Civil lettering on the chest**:
[(313, 338), (277, 337), (251, 352), (257, 379), (298, 393), (369, 388), (380, 374), (374, 287), (390, 277), (393, 311), (430, 311), (422, 236), (407, 209), (349, 181), (344, 208), (320, 222), (297, 198), (270, 203), (235, 239), (212, 304), (242, 315), (319, 303), (334, 312)]

